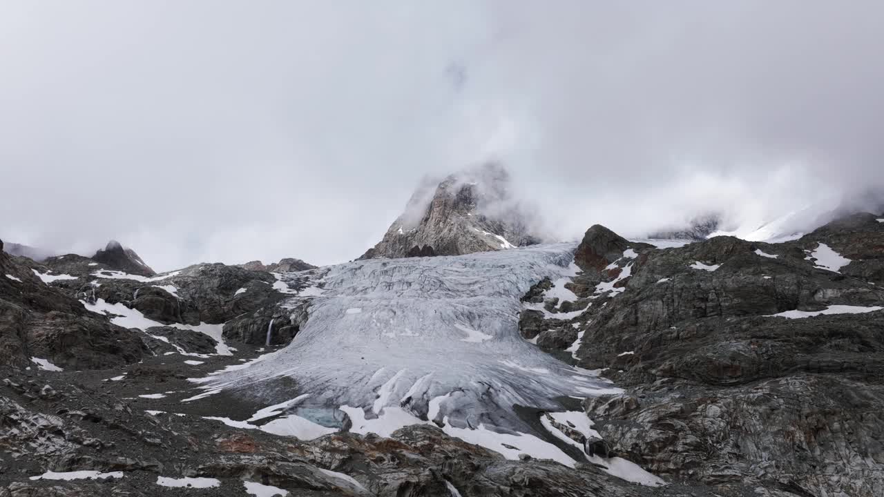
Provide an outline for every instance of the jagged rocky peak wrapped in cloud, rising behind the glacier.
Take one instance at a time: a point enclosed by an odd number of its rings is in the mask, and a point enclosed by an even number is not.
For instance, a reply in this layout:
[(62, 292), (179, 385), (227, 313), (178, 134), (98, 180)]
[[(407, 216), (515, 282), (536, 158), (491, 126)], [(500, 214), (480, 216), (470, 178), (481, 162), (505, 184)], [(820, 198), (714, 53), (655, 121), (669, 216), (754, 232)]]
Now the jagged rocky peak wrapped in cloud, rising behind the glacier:
[(504, 167), (489, 163), (424, 180), (384, 239), (361, 259), (457, 256), (539, 243), (530, 210), (513, 198)]

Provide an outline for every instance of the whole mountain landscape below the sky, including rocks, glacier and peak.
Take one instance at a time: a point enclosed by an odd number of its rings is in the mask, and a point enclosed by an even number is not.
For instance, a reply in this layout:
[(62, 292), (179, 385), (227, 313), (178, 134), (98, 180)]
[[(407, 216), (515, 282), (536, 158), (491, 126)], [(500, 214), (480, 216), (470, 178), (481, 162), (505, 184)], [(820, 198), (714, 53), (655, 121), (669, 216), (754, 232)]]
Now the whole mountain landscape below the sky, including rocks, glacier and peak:
[(0, 496), (880, 495), (884, 215), (489, 249), (490, 184), (402, 258), (0, 251)]

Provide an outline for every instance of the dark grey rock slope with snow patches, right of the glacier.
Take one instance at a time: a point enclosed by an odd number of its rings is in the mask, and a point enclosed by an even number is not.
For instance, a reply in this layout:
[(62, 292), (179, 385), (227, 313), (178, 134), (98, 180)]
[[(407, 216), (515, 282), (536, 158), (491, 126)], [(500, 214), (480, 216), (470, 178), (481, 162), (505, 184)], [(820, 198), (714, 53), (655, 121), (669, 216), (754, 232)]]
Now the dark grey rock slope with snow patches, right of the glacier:
[(587, 310), (555, 319), (554, 300), (530, 296), (545, 307), (522, 312), (522, 335), (559, 353), (579, 331), (577, 363), (628, 389), (586, 402), (594, 428), (657, 475), (720, 495), (880, 495), (878, 218), (785, 243), (720, 236), (666, 249), (593, 226), (576, 250), (584, 272), (568, 284)]

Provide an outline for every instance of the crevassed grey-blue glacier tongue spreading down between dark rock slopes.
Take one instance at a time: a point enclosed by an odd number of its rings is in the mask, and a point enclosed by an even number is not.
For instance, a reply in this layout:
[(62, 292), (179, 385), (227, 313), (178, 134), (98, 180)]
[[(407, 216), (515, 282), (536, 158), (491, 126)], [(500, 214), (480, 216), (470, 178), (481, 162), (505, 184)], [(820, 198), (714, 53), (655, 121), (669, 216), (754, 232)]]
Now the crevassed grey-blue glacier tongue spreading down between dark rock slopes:
[(540, 279), (569, 275), (574, 250), (554, 244), (318, 270), (324, 291), (309, 297), (309, 319), (292, 343), (205, 387), (248, 388), (266, 401), (309, 394), (302, 412), (346, 406), (365, 419), (389, 411), (404, 424), (534, 431), (515, 405), (564, 410), (561, 397), (619, 391), (518, 332), (520, 297)]

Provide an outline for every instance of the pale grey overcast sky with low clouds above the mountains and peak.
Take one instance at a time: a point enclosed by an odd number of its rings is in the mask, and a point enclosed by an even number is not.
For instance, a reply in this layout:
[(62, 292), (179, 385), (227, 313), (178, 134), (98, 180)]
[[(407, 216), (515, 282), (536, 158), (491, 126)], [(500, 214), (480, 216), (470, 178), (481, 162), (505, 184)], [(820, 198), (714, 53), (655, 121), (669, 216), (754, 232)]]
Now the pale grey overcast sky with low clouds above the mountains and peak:
[[(629, 4), (629, 6), (626, 6)], [(0, 238), (156, 270), (378, 241), (500, 160), (562, 237), (884, 183), (880, 2), (0, 3)]]

